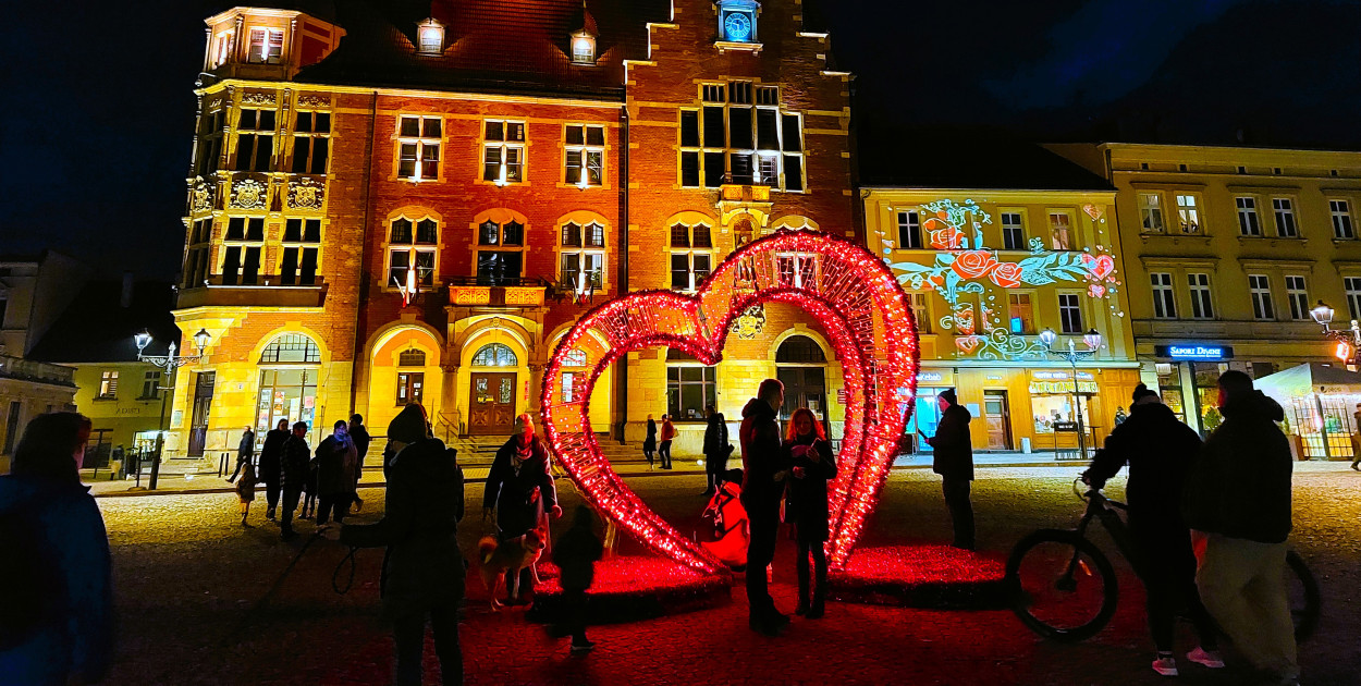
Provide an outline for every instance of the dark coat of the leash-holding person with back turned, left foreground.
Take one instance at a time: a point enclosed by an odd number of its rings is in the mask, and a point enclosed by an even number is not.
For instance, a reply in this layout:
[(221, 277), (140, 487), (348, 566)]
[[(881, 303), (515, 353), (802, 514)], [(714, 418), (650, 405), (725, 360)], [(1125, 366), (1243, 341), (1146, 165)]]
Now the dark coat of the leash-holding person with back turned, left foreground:
[(340, 542), (387, 546), (382, 607), (389, 618), (408, 617), (463, 598), (464, 562), (459, 550), (463, 519), (463, 470), (438, 438), (407, 445), (392, 460), (387, 512), (374, 524), (346, 524)]

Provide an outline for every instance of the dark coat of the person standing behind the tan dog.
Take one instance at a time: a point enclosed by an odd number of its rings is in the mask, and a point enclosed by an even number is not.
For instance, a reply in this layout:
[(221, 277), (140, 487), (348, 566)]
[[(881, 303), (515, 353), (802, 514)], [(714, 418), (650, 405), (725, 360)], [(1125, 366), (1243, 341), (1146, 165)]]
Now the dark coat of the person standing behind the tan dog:
[[(558, 489), (548, 472), (548, 449), (539, 437), (534, 437), (529, 457), (516, 468), (514, 455), (520, 436), (497, 451), (487, 472), (487, 486), (482, 495), (483, 508), (497, 509), (497, 527), (501, 535), (513, 538), (532, 529), (539, 517), (558, 504)], [(534, 501), (534, 489), (539, 487), (539, 500)]]

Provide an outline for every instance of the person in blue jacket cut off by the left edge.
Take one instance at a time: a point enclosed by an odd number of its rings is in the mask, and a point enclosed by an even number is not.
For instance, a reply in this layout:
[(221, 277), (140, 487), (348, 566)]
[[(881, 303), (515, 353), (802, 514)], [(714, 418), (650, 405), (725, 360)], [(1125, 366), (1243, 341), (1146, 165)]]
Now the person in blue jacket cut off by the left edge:
[(76, 460), (90, 419), (35, 416), (0, 476), (0, 682), (103, 678), (113, 655), (109, 536)]

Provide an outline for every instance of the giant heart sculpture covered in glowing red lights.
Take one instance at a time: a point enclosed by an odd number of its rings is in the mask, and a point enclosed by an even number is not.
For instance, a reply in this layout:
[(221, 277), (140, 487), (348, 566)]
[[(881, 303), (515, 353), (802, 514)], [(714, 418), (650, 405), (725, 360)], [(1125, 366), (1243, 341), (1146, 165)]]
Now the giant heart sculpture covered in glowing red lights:
[[(640, 291), (592, 309), (558, 343), (546, 372), (548, 445), (584, 497), (652, 550), (700, 572), (724, 566), (648, 508), (600, 455), (591, 389), (610, 363), (646, 347), (674, 347), (715, 365), (736, 317), (770, 301), (813, 316), (841, 362), (847, 415), (827, 540), (829, 562), (840, 568), (878, 502), (916, 393), (916, 321), (882, 260), (818, 231), (778, 231), (735, 250), (693, 295)], [(572, 357), (576, 370), (583, 355), (585, 372), (565, 376), (563, 362)]]

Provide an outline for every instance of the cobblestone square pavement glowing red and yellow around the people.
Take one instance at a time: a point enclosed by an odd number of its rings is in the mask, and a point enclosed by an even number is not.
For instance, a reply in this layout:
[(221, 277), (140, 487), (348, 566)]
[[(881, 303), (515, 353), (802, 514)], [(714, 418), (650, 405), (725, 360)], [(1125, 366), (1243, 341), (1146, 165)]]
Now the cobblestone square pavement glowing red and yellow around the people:
[[(984, 467), (974, 486), (980, 547), (1003, 557), (1038, 527), (1071, 525), (1081, 502), (1070, 491), (1079, 467)], [(576, 501), (559, 482), (566, 505)], [(630, 485), (680, 531), (698, 521), (701, 476), (634, 479)], [(1361, 671), (1361, 474), (1345, 463), (1305, 464), (1296, 475), (1294, 546), (1319, 577), (1323, 621), (1301, 647), (1305, 682), (1356, 685)], [(1121, 485), (1113, 483), (1112, 497)], [(381, 490), (366, 490), (365, 512), (381, 510)], [(468, 489), (471, 519), (460, 536), (471, 549), (480, 486)], [(113, 543), (120, 611), (118, 657), (110, 683), (387, 683), (391, 642), (377, 621), (382, 554), (361, 550), (354, 588), (332, 591), (346, 549), (308, 538), (278, 540), (257, 501), (252, 528), (238, 525), (230, 494), (101, 498)], [(864, 544), (940, 542), (949, 520), (939, 482), (927, 471), (896, 471)], [(301, 529), (308, 531), (304, 525)], [(1098, 543), (1109, 553), (1108, 540)], [(623, 553), (634, 551), (632, 543)], [(773, 592), (793, 606), (792, 544), (781, 540)], [(1115, 557), (1115, 555), (1112, 555)], [(280, 574), (297, 558), (291, 573)], [(1151, 685), (1151, 645), (1143, 593), (1128, 568), (1115, 621), (1079, 645), (1037, 640), (1004, 611), (940, 612), (832, 603), (821, 621), (796, 618), (777, 640), (746, 627), (740, 588), (732, 604), (630, 625), (591, 629), (595, 652), (572, 656), (521, 611), (491, 614), (480, 581), (468, 585), (463, 625), (467, 681), (474, 685), (661, 683), (949, 683)], [(346, 581), (342, 568), (338, 581)], [(278, 583), (267, 603), (267, 596)], [(1183, 632), (1180, 649), (1194, 638)], [(1232, 657), (1232, 656), (1230, 656)], [(1185, 663), (1185, 660), (1181, 660)], [(1237, 660), (1241, 664), (1241, 660)], [(438, 683), (433, 647), (427, 683)], [(1210, 671), (1183, 664), (1188, 685), (1251, 685), (1230, 664)]]

